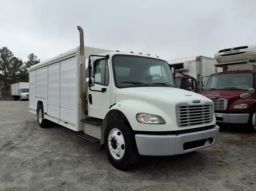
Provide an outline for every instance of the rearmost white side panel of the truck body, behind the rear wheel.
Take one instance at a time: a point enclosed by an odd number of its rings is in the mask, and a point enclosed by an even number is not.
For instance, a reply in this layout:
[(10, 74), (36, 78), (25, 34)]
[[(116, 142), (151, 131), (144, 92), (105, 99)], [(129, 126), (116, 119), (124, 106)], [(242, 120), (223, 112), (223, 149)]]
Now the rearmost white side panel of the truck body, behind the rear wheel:
[(36, 71), (29, 72), (29, 108), (36, 110)]

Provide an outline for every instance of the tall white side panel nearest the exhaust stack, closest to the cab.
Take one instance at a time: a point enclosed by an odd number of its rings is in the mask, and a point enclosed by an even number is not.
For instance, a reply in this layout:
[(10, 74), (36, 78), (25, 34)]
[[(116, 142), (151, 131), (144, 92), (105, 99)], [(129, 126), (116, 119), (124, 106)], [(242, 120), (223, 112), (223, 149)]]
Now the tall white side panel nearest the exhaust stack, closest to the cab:
[(60, 120), (76, 125), (76, 60), (60, 62)]

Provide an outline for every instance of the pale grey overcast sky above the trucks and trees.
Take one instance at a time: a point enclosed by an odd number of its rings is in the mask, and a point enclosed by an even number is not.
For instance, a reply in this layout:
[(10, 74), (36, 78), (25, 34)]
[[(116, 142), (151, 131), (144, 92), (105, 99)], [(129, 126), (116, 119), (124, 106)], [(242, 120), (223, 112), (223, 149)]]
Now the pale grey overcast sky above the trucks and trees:
[(166, 59), (256, 44), (255, 0), (0, 0), (0, 47), (27, 61), (85, 45)]

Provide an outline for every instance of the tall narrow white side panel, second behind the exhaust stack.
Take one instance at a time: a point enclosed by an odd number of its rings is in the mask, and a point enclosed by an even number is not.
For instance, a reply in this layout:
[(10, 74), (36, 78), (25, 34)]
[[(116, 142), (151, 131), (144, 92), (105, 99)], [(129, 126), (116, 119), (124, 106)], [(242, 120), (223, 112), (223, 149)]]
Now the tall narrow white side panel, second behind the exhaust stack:
[(60, 63), (48, 66), (48, 115), (60, 116)]

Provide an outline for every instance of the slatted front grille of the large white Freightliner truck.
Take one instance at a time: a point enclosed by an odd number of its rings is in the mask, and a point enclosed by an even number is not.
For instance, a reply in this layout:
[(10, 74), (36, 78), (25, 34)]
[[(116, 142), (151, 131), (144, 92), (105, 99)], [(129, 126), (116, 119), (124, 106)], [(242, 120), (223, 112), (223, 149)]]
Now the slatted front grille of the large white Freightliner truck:
[(179, 127), (211, 123), (213, 115), (213, 105), (210, 104), (177, 106), (176, 108), (176, 119)]

